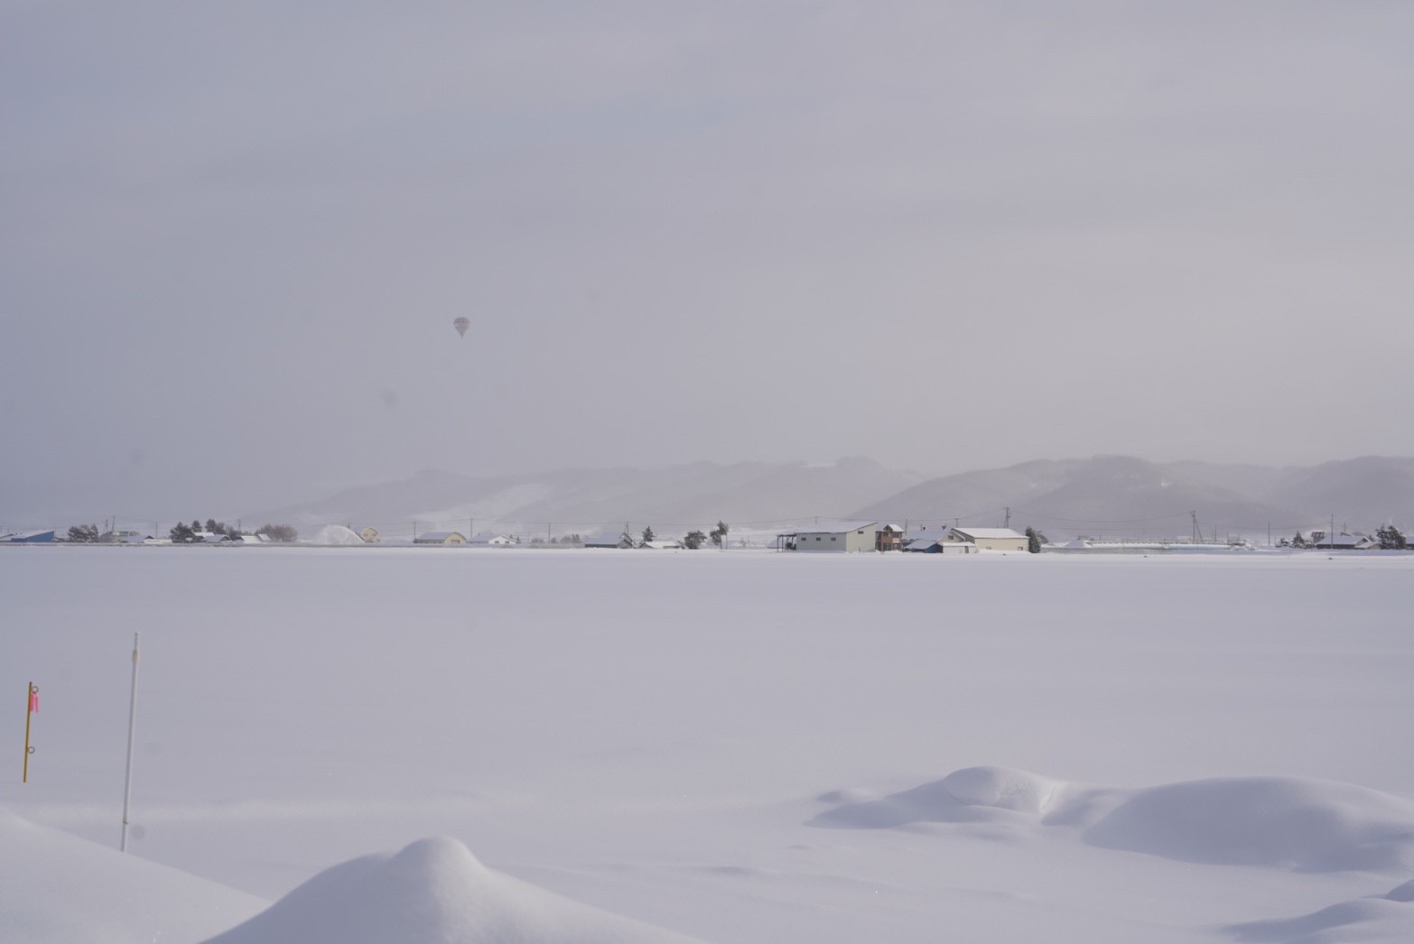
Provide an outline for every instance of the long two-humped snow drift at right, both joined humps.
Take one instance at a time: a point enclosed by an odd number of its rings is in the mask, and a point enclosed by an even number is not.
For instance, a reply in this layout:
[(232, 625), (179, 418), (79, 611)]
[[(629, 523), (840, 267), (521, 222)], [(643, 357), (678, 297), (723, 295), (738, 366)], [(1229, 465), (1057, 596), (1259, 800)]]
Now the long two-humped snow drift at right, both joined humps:
[(813, 825), (1032, 821), (1085, 842), (1182, 862), (1301, 872), (1414, 866), (1414, 803), (1345, 783), (1219, 777), (1145, 790), (1097, 790), (1007, 767), (967, 767), (885, 797), (826, 794)]

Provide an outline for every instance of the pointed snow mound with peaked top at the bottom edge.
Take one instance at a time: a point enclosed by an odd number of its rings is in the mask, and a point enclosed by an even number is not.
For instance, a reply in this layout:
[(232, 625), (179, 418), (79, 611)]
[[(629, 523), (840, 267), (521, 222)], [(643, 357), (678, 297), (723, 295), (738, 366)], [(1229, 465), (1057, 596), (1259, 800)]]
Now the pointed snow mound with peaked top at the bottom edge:
[(314, 876), (211, 944), (687, 944), (488, 869), (455, 839)]

